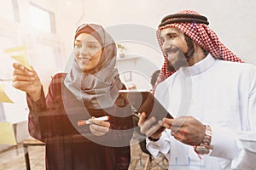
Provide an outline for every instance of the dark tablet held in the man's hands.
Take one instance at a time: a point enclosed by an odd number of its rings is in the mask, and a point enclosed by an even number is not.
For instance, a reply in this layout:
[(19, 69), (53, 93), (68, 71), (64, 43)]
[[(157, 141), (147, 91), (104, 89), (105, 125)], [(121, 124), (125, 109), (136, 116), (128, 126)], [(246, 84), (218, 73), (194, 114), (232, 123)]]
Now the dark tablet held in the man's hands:
[[(119, 94), (128, 99), (129, 104), (134, 107), (138, 113), (145, 112), (147, 119), (154, 116), (156, 118), (154, 124), (165, 117), (173, 118), (172, 115), (166, 111), (166, 108), (161, 105), (149, 91), (119, 90)], [(163, 130), (163, 128), (161, 128), (161, 130)]]

